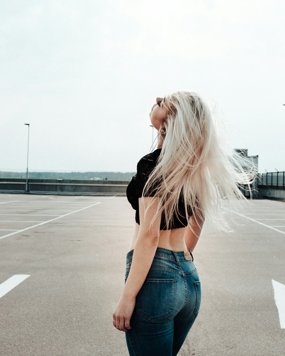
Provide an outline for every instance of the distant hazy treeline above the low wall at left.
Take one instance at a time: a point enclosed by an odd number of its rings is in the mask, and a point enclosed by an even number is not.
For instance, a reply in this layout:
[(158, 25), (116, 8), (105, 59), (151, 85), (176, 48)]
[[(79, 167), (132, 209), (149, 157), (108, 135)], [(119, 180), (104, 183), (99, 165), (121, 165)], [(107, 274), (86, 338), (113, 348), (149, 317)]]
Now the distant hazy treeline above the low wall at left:
[[(136, 172), (29, 172), (29, 178), (131, 180)], [(26, 172), (0, 171), (0, 178), (26, 178)]]

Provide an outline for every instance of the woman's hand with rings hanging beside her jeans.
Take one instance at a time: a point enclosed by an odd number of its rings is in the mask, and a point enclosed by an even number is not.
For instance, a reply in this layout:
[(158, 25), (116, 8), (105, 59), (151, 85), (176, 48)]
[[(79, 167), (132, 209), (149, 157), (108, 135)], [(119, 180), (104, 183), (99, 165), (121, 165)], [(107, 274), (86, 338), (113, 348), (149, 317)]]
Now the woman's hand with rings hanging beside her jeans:
[(113, 312), (113, 325), (116, 329), (124, 331), (125, 333), (129, 332), (131, 329), (130, 319), (135, 308), (135, 302), (135, 297), (128, 298), (124, 295), (121, 296), (119, 303)]

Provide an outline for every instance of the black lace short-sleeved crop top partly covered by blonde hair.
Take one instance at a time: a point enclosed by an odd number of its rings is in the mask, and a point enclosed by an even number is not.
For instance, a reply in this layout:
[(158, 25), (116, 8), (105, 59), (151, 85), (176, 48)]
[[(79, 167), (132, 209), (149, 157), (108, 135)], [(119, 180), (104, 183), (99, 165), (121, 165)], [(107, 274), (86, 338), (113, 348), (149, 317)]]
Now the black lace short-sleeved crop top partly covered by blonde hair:
[[(154, 170), (157, 159), (159, 158), (161, 152), (161, 148), (158, 148), (152, 153), (149, 153), (142, 157), (137, 166), (137, 173), (133, 176), (132, 180), (130, 181), (127, 189), (126, 194), (129, 200), (129, 203), (136, 210), (136, 223), (140, 224), (140, 214), (139, 214), (139, 198), (142, 196), (142, 190), (149, 178), (151, 172)], [(146, 197), (153, 197), (154, 196), (154, 189), (149, 190), (146, 192)], [(190, 206), (188, 206), (188, 215), (192, 215), (192, 211)], [(180, 227), (187, 226), (187, 219), (185, 216), (185, 207), (184, 207), (184, 200), (181, 197), (178, 202), (178, 216), (173, 213), (172, 221), (170, 224), (170, 229), (178, 229)], [(179, 221), (180, 220), (180, 221)], [(160, 222), (160, 230), (167, 230), (165, 215), (164, 212), (161, 214), (161, 222)]]

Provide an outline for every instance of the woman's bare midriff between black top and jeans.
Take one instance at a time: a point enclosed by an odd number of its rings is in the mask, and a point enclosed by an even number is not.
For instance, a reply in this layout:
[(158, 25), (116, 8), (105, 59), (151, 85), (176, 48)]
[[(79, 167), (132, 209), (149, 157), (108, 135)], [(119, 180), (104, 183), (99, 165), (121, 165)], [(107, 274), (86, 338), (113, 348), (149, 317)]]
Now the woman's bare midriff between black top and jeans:
[[(133, 240), (131, 241), (129, 251), (133, 250), (135, 247), (136, 239), (139, 234), (139, 224), (135, 224), (135, 232)], [(160, 230), (159, 232), (159, 242), (157, 247), (166, 248), (172, 251), (185, 251), (187, 247), (184, 242), (184, 233), (186, 227), (180, 227), (179, 229), (172, 230)]]

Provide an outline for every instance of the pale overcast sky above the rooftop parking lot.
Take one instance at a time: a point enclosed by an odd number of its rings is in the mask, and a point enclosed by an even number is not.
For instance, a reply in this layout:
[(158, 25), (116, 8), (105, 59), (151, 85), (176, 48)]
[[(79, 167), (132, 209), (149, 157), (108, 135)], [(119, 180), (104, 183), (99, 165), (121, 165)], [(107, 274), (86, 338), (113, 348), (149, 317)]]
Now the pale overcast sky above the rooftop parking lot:
[(136, 171), (156, 96), (193, 89), (224, 145), (285, 171), (285, 2), (1, 0), (0, 169)]

